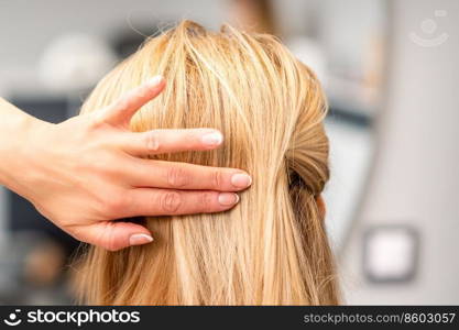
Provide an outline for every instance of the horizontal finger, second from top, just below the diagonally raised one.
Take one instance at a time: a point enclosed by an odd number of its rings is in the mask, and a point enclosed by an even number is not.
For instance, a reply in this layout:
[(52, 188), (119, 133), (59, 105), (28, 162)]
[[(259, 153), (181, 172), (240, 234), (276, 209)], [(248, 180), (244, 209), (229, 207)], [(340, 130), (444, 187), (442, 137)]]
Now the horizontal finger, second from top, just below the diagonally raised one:
[(212, 129), (125, 132), (120, 136), (121, 147), (134, 156), (211, 150), (221, 145), (222, 141), (221, 133)]

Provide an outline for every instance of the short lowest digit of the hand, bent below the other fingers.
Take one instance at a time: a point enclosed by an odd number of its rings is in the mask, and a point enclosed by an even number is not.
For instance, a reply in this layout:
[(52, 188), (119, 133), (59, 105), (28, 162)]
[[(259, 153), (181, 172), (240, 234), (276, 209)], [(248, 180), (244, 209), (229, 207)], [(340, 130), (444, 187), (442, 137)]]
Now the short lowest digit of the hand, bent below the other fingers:
[(117, 251), (151, 243), (153, 238), (146, 228), (136, 223), (101, 221), (89, 226), (81, 241), (109, 251)]

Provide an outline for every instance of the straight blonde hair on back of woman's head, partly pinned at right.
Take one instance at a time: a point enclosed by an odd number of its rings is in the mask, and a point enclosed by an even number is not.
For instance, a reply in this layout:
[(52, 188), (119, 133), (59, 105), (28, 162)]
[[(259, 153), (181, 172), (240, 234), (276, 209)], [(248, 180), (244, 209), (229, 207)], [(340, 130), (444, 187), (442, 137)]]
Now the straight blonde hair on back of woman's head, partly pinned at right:
[(149, 40), (96, 87), (100, 109), (161, 74), (165, 91), (133, 131), (219, 129), (222, 148), (152, 158), (238, 167), (253, 185), (230, 211), (141, 219), (155, 241), (90, 248), (80, 271), (91, 304), (337, 304), (318, 198), (328, 179), (326, 111), (316, 77), (273, 36), (185, 21)]

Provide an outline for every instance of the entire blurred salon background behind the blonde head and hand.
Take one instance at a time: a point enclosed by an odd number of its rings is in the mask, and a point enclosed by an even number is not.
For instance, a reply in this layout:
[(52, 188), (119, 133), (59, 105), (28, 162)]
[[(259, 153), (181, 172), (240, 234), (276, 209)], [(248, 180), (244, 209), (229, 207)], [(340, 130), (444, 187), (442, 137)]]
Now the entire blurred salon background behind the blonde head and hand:
[[(0, 95), (61, 122), (183, 19), (276, 34), (323, 81), (345, 302), (459, 304), (459, 2), (1, 0)], [(0, 304), (72, 304), (77, 246), (0, 187)]]

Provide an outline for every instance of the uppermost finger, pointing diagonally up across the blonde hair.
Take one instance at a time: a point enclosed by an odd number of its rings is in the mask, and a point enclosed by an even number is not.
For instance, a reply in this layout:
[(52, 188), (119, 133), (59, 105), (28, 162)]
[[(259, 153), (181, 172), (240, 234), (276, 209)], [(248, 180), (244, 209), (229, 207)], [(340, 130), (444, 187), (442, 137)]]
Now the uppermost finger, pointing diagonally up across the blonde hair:
[(154, 99), (164, 89), (164, 86), (165, 80), (162, 76), (153, 77), (105, 109), (103, 120), (111, 124), (127, 127), (132, 116), (143, 105)]

